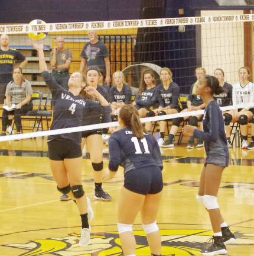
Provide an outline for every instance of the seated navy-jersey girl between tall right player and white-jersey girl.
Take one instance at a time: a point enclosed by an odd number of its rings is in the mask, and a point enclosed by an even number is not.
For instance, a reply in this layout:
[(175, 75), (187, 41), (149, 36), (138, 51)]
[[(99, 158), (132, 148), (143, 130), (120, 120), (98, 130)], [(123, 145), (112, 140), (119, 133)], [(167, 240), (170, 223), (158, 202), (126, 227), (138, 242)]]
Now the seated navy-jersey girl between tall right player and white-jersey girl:
[[(213, 75), (218, 79), (220, 86), (224, 89), (221, 94), (214, 95), (217, 103), (220, 107), (226, 107), (232, 105), (232, 85), (224, 81), (224, 71), (220, 68), (215, 69)], [(223, 112), (226, 137), (227, 137), (227, 147), (232, 148), (232, 143), (230, 140), (230, 121), (234, 116), (234, 110), (228, 110)]]

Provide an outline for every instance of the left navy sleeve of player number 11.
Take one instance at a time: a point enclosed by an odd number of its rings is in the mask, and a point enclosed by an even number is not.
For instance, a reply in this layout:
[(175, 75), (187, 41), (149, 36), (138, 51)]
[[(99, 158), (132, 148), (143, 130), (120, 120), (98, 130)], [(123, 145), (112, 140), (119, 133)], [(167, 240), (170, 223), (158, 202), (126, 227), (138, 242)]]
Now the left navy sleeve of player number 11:
[(117, 171), (121, 163), (121, 149), (114, 137), (109, 138), (109, 170)]

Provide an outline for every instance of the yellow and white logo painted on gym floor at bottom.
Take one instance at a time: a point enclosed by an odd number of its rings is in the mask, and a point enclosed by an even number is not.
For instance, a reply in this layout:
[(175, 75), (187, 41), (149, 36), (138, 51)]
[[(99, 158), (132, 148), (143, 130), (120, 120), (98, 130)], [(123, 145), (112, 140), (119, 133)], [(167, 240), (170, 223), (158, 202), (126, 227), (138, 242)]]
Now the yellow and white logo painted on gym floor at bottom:
[[(144, 231), (133, 231), (136, 237), (136, 255), (150, 255)], [(211, 231), (203, 229), (162, 229), (162, 255), (196, 256), (204, 247)], [(236, 245), (254, 245), (254, 233), (235, 233)], [(118, 232), (92, 233), (90, 244), (79, 247), (77, 233), (61, 238), (38, 239), (26, 244), (5, 244), (5, 247), (25, 250), (19, 256), (57, 255), (57, 256), (120, 256), (121, 243)]]

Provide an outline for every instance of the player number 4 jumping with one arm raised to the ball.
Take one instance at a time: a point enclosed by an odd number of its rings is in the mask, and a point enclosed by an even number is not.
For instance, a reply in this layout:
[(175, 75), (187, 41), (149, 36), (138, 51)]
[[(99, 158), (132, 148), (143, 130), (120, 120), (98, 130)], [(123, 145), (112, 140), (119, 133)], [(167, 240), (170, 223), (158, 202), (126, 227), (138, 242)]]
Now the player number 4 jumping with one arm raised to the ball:
[[(96, 107), (97, 103), (80, 96), (82, 89), (97, 98), (100, 104), (109, 105), (95, 88), (84, 88), (85, 79), (80, 72), (70, 76), (69, 91), (63, 89), (47, 71), (43, 41), (32, 41), (32, 45), (38, 52), (41, 75), (52, 93), (54, 114), (51, 130), (80, 126), (84, 108)], [(57, 189), (76, 201), (82, 220), (79, 245), (86, 246), (90, 241), (88, 219), (92, 219), (93, 212), (82, 185), (81, 132), (48, 136), (48, 157)]]

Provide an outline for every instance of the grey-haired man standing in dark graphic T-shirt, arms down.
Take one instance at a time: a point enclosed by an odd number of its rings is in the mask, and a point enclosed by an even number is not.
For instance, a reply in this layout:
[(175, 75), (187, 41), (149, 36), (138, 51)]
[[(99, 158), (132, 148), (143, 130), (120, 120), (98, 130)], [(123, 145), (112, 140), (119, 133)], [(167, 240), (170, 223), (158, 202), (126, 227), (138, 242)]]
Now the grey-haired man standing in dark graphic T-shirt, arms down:
[(97, 32), (95, 30), (88, 31), (89, 42), (83, 47), (80, 55), (80, 72), (89, 66), (97, 66), (103, 75), (105, 76), (106, 84), (110, 84), (110, 62), (109, 62), (109, 50), (106, 45), (99, 41)]

